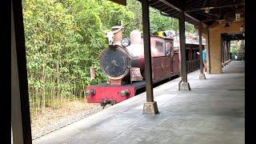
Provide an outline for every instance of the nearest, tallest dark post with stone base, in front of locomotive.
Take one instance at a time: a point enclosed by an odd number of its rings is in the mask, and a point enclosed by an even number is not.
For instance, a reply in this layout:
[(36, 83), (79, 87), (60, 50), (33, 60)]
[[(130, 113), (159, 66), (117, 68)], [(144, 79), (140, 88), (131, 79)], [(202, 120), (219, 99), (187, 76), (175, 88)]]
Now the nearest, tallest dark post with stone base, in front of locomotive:
[(145, 58), (146, 77), (146, 103), (144, 103), (142, 114), (158, 114), (157, 102), (154, 102), (151, 50), (150, 50), (150, 16), (149, 1), (142, 0), (142, 22), (143, 22), (143, 42)]

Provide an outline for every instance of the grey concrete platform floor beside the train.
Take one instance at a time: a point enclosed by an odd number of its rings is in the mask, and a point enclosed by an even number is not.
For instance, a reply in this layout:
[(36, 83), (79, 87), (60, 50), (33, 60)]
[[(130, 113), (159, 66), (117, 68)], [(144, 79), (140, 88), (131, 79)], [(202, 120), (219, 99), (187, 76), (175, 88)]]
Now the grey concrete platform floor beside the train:
[(154, 88), (160, 114), (142, 114), (142, 93), (33, 143), (245, 143), (244, 62), (230, 62), (206, 80), (198, 75), (188, 75), (190, 91), (178, 91), (180, 78)]

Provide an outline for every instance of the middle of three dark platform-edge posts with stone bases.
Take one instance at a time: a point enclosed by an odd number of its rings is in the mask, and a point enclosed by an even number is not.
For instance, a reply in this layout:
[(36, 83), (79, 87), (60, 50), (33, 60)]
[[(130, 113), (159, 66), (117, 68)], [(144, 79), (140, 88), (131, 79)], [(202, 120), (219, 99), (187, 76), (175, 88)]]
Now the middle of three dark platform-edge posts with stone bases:
[(179, 42), (180, 42), (180, 59), (181, 59), (181, 74), (182, 74), (182, 83), (180, 90), (190, 90), (190, 83), (187, 82), (187, 73), (186, 73), (186, 37), (185, 37), (185, 14), (184, 11), (181, 11), (180, 18), (178, 18), (179, 26)]

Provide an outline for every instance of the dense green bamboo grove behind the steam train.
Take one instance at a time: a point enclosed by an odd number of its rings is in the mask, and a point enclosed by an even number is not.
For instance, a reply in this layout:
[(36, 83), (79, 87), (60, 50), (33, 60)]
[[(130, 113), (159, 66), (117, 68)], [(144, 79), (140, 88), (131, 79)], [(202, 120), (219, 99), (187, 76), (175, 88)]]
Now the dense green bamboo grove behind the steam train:
[[(84, 98), (86, 86), (106, 82), (98, 63), (107, 44), (101, 26), (110, 30), (122, 22), (126, 37), (142, 30), (136, 0), (127, 6), (107, 0), (23, 0), (22, 6), (31, 112), (57, 109), (66, 100)], [(150, 8), (150, 31), (158, 30), (178, 30), (178, 20)], [(94, 80), (91, 66), (98, 68)]]

